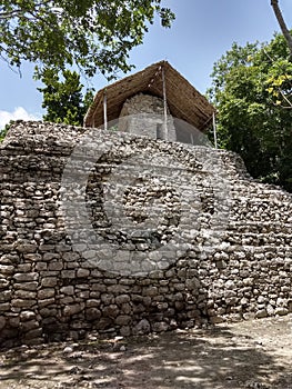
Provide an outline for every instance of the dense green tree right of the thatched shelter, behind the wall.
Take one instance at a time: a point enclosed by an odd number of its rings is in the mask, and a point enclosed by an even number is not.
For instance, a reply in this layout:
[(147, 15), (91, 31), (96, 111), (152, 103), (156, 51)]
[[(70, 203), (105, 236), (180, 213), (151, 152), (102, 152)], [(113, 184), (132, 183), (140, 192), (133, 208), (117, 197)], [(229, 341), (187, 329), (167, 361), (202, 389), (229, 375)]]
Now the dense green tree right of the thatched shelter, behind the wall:
[(212, 78), (221, 147), (238, 152), (254, 178), (292, 191), (292, 63), (284, 38), (233, 43)]

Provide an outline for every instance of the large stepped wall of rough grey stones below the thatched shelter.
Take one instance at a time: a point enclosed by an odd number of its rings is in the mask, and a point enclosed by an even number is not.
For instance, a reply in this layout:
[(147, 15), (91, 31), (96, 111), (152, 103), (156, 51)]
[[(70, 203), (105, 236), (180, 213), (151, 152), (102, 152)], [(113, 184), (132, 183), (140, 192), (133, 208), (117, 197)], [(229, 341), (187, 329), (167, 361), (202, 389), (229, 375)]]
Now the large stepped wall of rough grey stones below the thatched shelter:
[(292, 311), (291, 194), (226, 151), (94, 130), (74, 220), (63, 172), (87, 131), (17, 122), (0, 146), (0, 345)]

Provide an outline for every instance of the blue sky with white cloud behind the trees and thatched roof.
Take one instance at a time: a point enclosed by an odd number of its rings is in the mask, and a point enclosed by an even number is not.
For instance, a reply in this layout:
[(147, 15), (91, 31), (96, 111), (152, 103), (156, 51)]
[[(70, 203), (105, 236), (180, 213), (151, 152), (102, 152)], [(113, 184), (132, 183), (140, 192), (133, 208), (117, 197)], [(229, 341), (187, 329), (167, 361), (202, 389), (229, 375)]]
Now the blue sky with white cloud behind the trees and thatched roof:
[[(164, 0), (177, 19), (171, 29), (157, 21), (150, 27), (144, 43), (130, 56), (135, 70), (168, 60), (202, 93), (211, 84), (213, 63), (231, 48), (272, 39), (279, 26), (270, 0)], [(292, 28), (292, 0), (280, 0), (285, 21)], [(32, 64), (24, 64), (22, 77), (0, 61), (0, 128), (10, 119), (33, 119), (42, 116), (42, 94), (39, 82), (32, 80)], [(121, 73), (122, 78), (123, 74)], [(107, 80), (98, 76), (92, 80), (95, 90)]]

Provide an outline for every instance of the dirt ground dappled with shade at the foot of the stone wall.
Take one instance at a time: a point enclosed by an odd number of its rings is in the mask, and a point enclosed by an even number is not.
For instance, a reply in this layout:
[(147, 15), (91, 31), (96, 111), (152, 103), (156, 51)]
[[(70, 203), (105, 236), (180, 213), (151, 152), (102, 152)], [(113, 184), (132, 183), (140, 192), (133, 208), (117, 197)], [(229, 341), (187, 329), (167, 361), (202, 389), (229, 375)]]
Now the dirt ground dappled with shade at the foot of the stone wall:
[(292, 389), (292, 315), (0, 352), (0, 389)]

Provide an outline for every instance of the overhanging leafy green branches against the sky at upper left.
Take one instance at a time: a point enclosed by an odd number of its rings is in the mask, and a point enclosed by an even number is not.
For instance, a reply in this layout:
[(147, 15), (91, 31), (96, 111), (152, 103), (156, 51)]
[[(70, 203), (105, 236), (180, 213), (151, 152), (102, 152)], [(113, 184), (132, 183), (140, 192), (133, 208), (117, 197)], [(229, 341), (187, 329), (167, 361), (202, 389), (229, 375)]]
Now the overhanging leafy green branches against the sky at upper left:
[(71, 66), (88, 77), (127, 71), (155, 14), (163, 27), (174, 19), (161, 0), (2, 0), (0, 56), (11, 67), (37, 63), (37, 77)]

